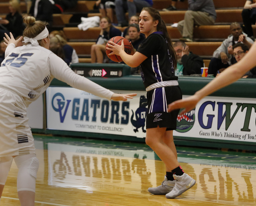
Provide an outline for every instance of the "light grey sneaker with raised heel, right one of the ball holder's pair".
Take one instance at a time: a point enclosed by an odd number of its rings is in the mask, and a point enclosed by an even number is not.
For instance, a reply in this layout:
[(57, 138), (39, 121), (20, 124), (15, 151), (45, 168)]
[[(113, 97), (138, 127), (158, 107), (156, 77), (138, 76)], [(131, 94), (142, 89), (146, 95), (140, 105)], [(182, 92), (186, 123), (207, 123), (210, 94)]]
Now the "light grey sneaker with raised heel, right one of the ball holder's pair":
[(196, 184), (196, 180), (192, 179), (186, 173), (182, 174), (182, 176), (174, 174), (173, 177), (176, 180), (175, 186), (171, 192), (166, 194), (166, 198), (176, 198), (189, 188), (192, 188), (194, 184)]

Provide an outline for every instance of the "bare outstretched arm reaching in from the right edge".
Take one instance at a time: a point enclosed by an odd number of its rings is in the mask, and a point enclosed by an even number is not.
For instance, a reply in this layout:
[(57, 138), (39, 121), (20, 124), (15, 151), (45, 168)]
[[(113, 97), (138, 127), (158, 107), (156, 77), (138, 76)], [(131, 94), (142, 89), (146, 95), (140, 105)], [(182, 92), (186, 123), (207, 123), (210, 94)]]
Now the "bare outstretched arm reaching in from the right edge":
[(232, 84), (239, 78), (248, 72), (251, 68), (256, 66), (256, 44), (253, 44), (249, 52), (240, 60), (238, 63), (233, 64), (228, 67), (224, 72), (222, 72), (218, 78), (212, 80), (204, 88), (196, 92), (193, 96), (186, 98), (184, 100), (178, 100), (168, 105), (168, 111), (172, 111), (178, 108), (184, 108), (182, 114), (188, 112), (196, 107), (196, 104), (205, 96), (212, 94), (213, 92)]

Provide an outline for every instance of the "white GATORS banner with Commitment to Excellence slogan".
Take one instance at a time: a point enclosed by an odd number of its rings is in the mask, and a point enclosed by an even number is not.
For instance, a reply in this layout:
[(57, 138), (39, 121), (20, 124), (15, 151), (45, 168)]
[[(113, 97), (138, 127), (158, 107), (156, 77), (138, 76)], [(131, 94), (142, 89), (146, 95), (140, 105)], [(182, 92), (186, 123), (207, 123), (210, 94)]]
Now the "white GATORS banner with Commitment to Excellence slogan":
[(146, 137), (146, 92), (117, 102), (74, 88), (49, 87), (46, 102), (48, 129)]

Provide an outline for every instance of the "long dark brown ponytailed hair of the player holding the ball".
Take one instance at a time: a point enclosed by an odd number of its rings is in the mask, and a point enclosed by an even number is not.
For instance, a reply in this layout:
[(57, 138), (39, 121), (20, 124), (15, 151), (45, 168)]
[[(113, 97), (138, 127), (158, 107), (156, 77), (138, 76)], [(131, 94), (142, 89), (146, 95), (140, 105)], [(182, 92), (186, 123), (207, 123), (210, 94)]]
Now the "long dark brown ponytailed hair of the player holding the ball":
[(164, 22), (164, 20), (162, 20), (162, 17), (160, 16), (160, 13), (158, 12), (158, 10), (151, 8), (151, 7), (144, 7), (142, 8), (142, 11), (147, 11), (150, 16), (152, 16), (153, 20), (158, 20), (158, 25), (156, 27), (158, 32), (163, 32), (164, 33), (164, 37), (166, 38), (167, 42), (168, 42), (168, 46), (169, 46), (169, 50), (170, 50), (170, 54), (172, 56), (172, 62), (174, 64), (174, 69), (176, 69), (177, 67), (177, 55), (176, 52), (173, 48), (172, 45), (172, 40), (167, 32), (167, 28), (166, 28), (166, 24)]

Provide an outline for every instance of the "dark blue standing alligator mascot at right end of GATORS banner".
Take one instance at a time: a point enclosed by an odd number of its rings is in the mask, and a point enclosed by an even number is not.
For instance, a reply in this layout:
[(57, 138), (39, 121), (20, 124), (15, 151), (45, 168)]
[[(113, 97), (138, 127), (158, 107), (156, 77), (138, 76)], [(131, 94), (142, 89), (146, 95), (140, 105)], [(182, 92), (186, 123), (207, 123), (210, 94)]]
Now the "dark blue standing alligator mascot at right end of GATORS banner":
[(147, 113), (146, 106), (148, 106), (148, 100), (142, 95), (140, 96), (140, 107), (135, 112), (136, 120), (133, 119), (134, 112), (132, 110), (131, 122), (132, 125), (136, 127), (136, 129), (133, 130), (135, 133), (138, 132), (138, 128), (142, 128), (142, 132), (146, 132), (144, 129)]

